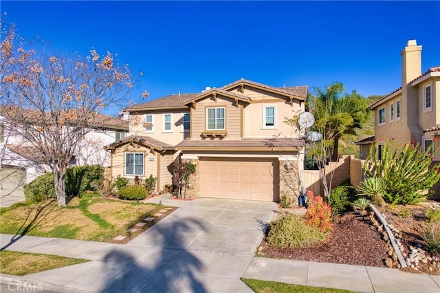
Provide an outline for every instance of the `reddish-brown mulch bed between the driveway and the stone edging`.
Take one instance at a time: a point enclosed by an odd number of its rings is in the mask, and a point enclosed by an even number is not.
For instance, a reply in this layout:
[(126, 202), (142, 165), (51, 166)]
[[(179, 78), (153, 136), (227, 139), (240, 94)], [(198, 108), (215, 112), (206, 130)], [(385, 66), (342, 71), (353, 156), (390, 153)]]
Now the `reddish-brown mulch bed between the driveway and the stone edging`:
[(333, 226), (327, 242), (311, 248), (274, 248), (265, 239), (260, 252), (265, 257), (386, 267), (386, 243), (370, 222), (357, 213), (348, 213)]

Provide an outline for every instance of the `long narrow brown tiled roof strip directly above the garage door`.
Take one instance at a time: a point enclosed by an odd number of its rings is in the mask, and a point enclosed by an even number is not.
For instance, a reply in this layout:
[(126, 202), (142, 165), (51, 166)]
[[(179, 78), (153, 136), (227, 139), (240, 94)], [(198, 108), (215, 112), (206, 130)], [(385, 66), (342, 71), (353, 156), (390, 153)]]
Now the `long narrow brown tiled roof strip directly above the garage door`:
[[(221, 149), (243, 149), (243, 151), (252, 149), (267, 149), (270, 151), (274, 148), (298, 148), (304, 146), (303, 138), (243, 138), (242, 140), (190, 140), (186, 139), (177, 144), (177, 149), (204, 149), (204, 148), (221, 148)], [(279, 149), (278, 149), (279, 150)]]

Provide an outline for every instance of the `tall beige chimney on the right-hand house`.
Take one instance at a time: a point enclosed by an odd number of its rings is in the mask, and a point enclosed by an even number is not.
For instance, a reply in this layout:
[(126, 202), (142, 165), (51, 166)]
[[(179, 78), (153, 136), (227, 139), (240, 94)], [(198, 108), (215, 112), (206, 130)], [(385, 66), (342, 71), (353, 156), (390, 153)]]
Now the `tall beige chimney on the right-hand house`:
[(416, 40), (409, 40), (401, 54), (401, 81), (402, 87), (421, 76), (421, 46)]

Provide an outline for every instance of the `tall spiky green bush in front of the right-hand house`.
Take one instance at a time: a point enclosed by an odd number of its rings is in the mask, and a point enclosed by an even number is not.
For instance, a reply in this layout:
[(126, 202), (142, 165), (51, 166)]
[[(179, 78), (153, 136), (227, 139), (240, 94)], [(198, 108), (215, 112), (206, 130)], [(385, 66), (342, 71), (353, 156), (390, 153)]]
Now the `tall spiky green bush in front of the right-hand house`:
[[(437, 142), (437, 139), (434, 139)], [(414, 140), (403, 148), (391, 151), (393, 139), (384, 144), (382, 159), (377, 158), (377, 144), (373, 144), (364, 164), (366, 177), (380, 177), (384, 181), (384, 199), (391, 204), (415, 204), (424, 191), (440, 180), (440, 164), (431, 166), (438, 146), (423, 152)]]

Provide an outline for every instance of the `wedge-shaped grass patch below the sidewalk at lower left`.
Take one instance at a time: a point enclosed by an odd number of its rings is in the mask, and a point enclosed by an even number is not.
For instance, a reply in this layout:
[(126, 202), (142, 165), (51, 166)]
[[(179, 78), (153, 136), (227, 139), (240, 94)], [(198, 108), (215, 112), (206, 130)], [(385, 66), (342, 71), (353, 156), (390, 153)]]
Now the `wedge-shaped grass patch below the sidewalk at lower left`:
[(1, 274), (24, 276), (25, 274), (34, 274), (87, 261), (87, 259), (71, 259), (56, 255), (3, 250), (0, 251), (0, 272)]

